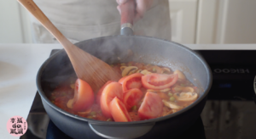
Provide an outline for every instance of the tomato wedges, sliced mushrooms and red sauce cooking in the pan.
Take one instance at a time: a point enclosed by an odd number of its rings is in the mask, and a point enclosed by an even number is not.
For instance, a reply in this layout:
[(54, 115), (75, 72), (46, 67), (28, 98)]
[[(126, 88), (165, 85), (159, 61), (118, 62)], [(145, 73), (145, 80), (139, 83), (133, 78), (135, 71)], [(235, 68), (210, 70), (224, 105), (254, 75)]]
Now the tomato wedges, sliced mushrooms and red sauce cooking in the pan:
[(123, 76), (98, 92), (80, 79), (60, 85), (49, 100), (71, 114), (94, 120), (128, 122), (173, 114), (194, 103), (199, 90), (183, 72), (136, 62), (113, 64)]

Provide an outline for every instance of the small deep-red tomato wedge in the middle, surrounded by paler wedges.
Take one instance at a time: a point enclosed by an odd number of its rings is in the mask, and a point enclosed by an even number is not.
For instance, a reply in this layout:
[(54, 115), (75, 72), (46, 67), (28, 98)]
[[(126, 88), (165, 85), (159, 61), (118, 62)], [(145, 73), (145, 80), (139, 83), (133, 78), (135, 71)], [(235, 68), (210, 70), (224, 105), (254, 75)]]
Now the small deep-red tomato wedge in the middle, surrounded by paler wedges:
[(130, 89), (124, 93), (123, 102), (127, 110), (130, 110), (132, 106), (136, 105), (143, 97), (143, 92), (137, 88)]

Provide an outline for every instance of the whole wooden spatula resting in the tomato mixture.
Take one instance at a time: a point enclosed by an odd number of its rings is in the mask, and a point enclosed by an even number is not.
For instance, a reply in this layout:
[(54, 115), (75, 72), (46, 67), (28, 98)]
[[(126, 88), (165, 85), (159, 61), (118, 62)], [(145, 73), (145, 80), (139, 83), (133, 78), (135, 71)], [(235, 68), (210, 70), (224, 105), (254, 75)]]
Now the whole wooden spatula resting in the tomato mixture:
[(84, 50), (73, 45), (68, 41), (65, 36), (53, 25), (44, 13), (38, 8), (37, 4), (32, 0), (18, 0), (36, 19), (38, 19), (42, 25), (61, 42), (73, 64), (79, 79), (88, 82), (91, 88), (96, 91), (107, 81), (118, 81), (121, 75), (115, 72), (111, 66), (96, 58), (90, 53), (84, 52)]

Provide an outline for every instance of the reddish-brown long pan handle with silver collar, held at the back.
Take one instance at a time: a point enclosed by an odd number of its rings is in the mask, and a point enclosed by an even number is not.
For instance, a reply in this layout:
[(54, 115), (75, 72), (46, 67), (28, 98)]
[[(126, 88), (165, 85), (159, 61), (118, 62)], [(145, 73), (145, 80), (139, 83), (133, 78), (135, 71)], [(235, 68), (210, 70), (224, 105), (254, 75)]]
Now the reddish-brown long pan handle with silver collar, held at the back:
[(132, 36), (133, 19), (135, 16), (135, 2), (128, 0), (126, 3), (120, 5), (121, 11), (121, 35)]

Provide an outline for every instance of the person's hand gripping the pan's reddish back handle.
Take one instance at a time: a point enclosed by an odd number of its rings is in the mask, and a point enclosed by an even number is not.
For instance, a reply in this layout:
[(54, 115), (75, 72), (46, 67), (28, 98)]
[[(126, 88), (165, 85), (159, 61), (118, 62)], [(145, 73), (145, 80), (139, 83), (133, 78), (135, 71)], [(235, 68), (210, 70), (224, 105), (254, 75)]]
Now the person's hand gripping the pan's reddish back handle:
[[(128, 0), (116, 0), (116, 2), (119, 4), (117, 7), (120, 11), (120, 5), (123, 3), (126, 3)], [(135, 14), (135, 19), (134, 22), (136, 22), (138, 19), (142, 19), (143, 15), (146, 13), (146, 11), (151, 8), (155, 0), (135, 0), (136, 3), (136, 14)]]

